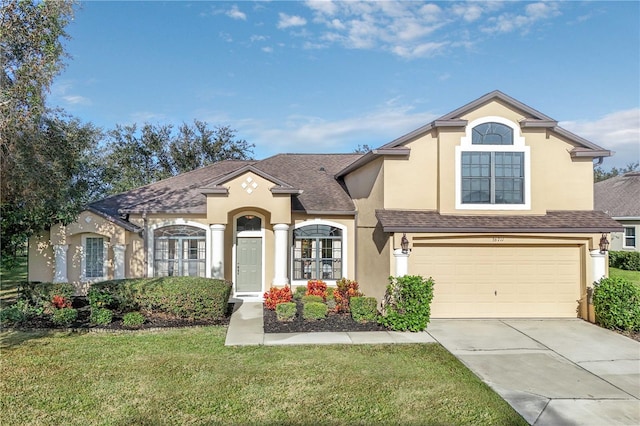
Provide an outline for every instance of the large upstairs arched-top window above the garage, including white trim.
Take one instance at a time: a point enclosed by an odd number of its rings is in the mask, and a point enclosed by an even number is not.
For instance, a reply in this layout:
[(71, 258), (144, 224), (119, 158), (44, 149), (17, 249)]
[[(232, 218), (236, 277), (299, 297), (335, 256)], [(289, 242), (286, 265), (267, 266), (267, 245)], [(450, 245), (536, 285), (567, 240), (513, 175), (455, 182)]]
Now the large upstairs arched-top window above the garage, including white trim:
[(518, 127), (501, 117), (476, 120), (456, 147), (456, 208), (528, 209), (529, 174)]

